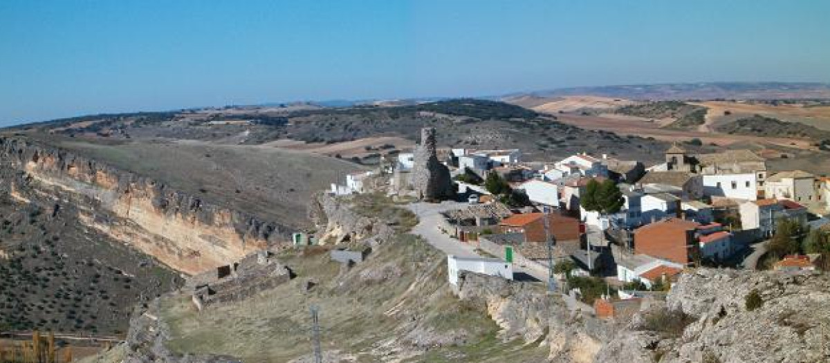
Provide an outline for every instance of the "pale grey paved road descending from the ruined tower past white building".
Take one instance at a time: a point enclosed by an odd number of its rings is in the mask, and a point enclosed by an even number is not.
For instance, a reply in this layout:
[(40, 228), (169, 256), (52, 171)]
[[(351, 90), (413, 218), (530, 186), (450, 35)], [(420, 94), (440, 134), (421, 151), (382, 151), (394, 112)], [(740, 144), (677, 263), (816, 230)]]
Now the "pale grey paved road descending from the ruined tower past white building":
[[(471, 244), (463, 243), (459, 240), (445, 235), (441, 230), (438, 230), (438, 225), (443, 216), (442, 212), (452, 211), (469, 206), (466, 203), (457, 201), (443, 201), (441, 204), (437, 203), (413, 203), (410, 204), (409, 210), (413, 211), (418, 216), (418, 224), (413, 228), (414, 235), (421, 235), (424, 240), (432, 244), (437, 249), (442, 250), (445, 254), (452, 254), (458, 257), (481, 257), (476, 254), (476, 248)], [(520, 266), (513, 265), (514, 273), (526, 273), (540, 282), (547, 281), (548, 271), (541, 266)]]

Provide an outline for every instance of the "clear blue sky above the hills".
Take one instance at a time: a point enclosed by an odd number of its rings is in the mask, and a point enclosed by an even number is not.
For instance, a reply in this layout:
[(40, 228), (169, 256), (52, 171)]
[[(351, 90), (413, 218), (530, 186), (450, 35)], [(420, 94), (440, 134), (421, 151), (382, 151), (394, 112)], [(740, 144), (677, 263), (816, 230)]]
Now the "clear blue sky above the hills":
[(830, 1), (0, 1), (0, 125), (733, 80), (830, 81)]

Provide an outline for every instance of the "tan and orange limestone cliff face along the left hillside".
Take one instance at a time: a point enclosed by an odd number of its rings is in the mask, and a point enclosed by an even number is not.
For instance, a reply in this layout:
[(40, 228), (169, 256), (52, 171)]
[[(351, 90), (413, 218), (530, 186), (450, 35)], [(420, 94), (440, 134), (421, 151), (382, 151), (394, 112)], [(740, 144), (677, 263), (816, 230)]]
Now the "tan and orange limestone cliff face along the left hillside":
[(281, 225), (215, 206), (57, 148), (19, 138), (0, 138), (4, 187), (78, 207), (81, 223), (151, 254), (183, 273), (199, 273), (287, 240)]

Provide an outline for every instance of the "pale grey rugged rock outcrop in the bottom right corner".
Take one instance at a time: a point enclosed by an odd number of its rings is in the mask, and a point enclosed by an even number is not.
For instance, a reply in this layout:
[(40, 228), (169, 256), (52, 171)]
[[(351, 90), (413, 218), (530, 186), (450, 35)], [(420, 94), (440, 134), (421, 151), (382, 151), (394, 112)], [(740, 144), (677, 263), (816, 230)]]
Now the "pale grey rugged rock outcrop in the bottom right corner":
[[(750, 310), (752, 290), (763, 304)], [(597, 360), (830, 361), (828, 301), (823, 274), (698, 269), (672, 287), (666, 306), (638, 313)], [(683, 316), (688, 322), (679, 322)]]

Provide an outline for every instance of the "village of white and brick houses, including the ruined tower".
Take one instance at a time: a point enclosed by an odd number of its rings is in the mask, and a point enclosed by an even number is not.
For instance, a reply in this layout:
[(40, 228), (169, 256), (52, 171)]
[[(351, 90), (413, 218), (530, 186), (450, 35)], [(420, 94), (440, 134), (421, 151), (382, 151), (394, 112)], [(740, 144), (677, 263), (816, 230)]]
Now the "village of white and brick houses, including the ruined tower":
[(447, 254), (451, 286), (464, 271), (546, 283), (598, 317), (636, 312), (696, 267), (827, 266), (830, 178), (769, 172), (750, 150), (525, 162), (518, 149), (438, 149), (424, 128), (413, 152), (330, 194), (377, 191), (413, 200), (413, 234)]

